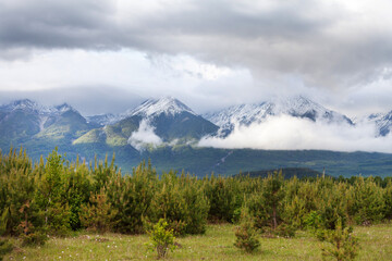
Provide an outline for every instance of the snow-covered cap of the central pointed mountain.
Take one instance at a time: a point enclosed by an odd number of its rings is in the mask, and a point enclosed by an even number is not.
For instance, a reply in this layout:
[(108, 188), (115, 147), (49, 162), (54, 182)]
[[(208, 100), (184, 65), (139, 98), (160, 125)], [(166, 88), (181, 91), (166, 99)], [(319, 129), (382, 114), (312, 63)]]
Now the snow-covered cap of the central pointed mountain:
[(158, 100), (150, 99), (143, 102), (136, 109), (126, 112), (128, 115), (139, 115), (145, 117), (157, 116), (162, 113), (166, 115), (175, 115), (182, 112), (188, 112), (196, 115), (191, 108), (182, 103), (180, 100), (173, 97), (164, 97)]

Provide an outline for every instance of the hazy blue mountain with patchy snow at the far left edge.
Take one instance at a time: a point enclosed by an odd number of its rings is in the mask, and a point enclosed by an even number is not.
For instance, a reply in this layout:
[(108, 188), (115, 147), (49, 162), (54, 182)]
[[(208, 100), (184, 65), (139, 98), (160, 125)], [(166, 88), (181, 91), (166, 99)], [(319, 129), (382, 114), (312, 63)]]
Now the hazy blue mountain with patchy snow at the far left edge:
[(97, 124), (87, 123), (75, 109), (63, 103), (44, 107), (28, 99), (0, 107), (0, 144), (69, 144)]

